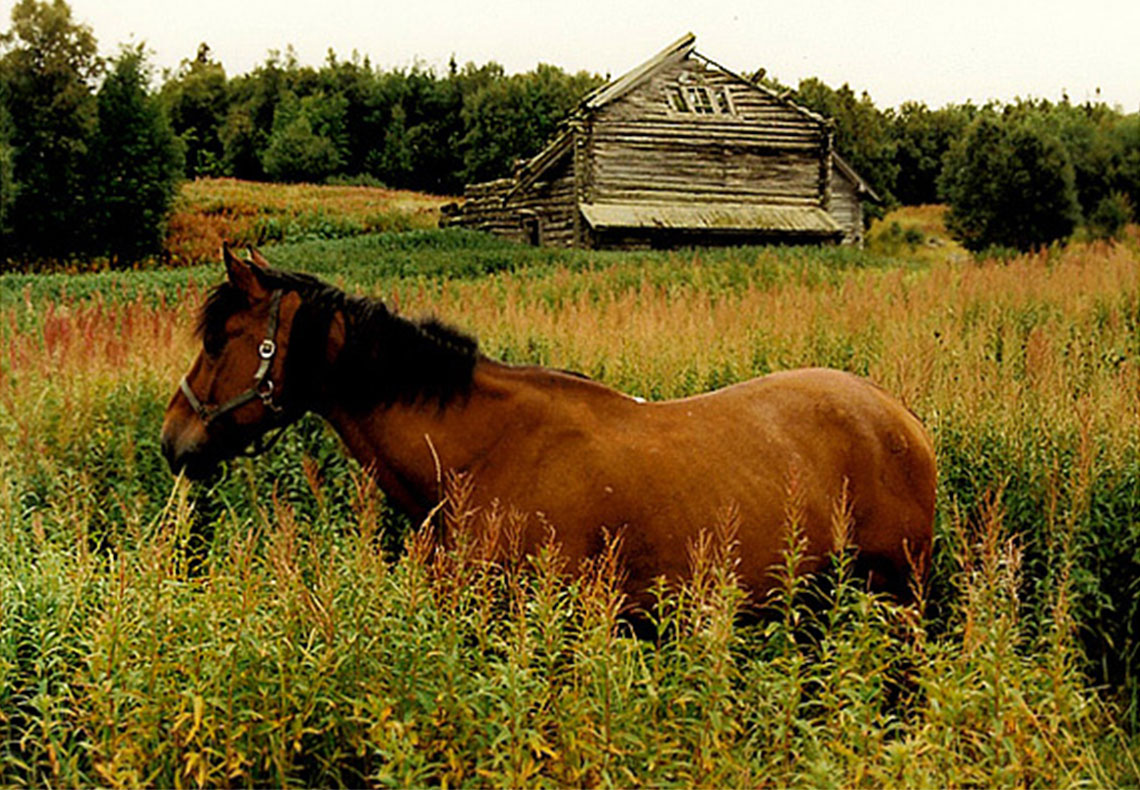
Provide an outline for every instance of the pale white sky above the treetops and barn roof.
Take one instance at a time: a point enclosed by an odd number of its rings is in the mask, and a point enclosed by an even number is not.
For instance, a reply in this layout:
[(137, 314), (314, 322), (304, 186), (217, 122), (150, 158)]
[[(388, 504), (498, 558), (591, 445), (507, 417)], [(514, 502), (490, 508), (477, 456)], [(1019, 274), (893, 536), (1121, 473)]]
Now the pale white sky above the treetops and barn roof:
[[(0, 0), (0, 30), (15, 0)], [(1016, 97), (1140, 111), (1140, 0), (70, 0), (105, 54), (145, 41), (160, 67), (205, 41), (229, 75), (293, 44), (384, 68), (497, 60), (617, 76), (686, 32), (734, 71), (819, 76), (879, 107)]]

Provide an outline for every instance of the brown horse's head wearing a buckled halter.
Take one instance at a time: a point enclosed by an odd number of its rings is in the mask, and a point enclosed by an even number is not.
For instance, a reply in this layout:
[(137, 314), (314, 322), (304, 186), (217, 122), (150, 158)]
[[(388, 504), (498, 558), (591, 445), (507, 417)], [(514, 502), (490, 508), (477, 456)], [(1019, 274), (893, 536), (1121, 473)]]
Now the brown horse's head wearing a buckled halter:
[(272, 283), (269, 264), (227, 247), (226, 282), (202, 308), (202, 350), (174, 391), (162, 423), (162, 451), (173, 471), (207, 475), (251, 442), (301, 414), (283, 380), (300, 295)]

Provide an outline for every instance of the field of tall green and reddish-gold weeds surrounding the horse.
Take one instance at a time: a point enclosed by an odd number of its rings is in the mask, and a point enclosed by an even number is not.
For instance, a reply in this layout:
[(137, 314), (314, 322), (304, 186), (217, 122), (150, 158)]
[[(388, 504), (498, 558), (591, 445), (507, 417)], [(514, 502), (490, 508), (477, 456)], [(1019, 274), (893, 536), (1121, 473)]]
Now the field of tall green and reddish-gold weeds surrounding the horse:
[(173, 480), (162, 414), (220, 264), (0, 277), (0, 784), (1140, 783), (1140, 245), (974, 261), (928, 214), (869, 251), (267, 249), (645, 398), (828, 365), (922, 418), (925, 617), (841, 567), (734, 624), (711, 540), (659, 643), (622, 635), (605, 562), (433, 553), (315, 418)]

